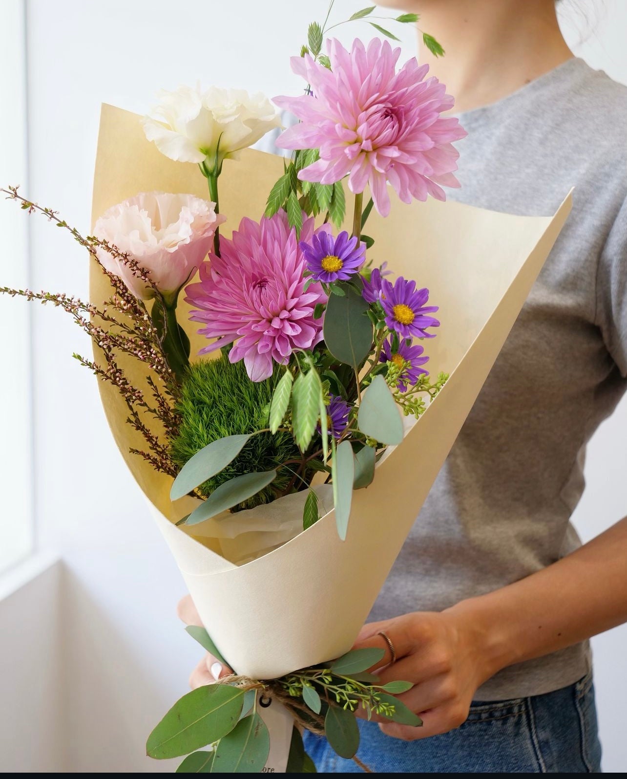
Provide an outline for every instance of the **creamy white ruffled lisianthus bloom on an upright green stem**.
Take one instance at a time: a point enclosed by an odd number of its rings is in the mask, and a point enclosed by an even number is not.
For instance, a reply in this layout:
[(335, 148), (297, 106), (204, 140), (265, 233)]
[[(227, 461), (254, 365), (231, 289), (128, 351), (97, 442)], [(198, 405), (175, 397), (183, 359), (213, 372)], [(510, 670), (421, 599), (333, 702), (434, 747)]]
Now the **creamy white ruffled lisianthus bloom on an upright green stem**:
[(205, 162), (215, 173), (222, 160), (235, 158), (266, 132), (281, 124), (270, 100), (261, 93), (222, 90), (204, 92), (180, 86), (162, 90), (159, 104), (143, 120), (145, 136), (159, 151), (178, 162)]

